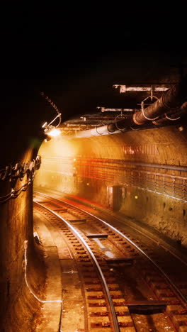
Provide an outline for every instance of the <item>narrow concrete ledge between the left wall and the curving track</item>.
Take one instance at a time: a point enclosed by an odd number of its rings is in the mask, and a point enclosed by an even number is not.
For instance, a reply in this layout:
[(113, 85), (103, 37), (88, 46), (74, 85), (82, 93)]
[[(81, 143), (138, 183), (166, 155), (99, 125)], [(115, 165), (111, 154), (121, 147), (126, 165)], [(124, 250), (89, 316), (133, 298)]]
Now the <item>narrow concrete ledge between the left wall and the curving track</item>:
[[(47, 267), (45, 301), (62, 300), (61, 267), (57, 247), (47, 227), (46, 219), (35, 213), (34, 223), (34, 231), (37, 231), (43, 245), (45, 265)], [(59, 332), (61, 316), (62, 303), (46, 302), (42, 304), (42, 319), (35, 331)]]

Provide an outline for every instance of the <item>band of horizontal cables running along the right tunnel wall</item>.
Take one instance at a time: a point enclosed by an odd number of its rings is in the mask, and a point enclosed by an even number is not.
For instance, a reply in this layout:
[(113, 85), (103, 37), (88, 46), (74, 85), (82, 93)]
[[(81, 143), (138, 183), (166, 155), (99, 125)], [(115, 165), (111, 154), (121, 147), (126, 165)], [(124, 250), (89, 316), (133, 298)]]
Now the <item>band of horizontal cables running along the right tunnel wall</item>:
[[(48, 178), (52, 175), (58, 177), (76, 175), (85, 181), (88, 179), (100, 180), (105, 182), (106, 186), (112, 183), (123, 187), (137, 187), (187, 201), (187, 177), (180, 175), (181, 172), (187, 171), (186, 167), (172, 165), (164, 167), (164, 165), (146, 163), (139, 166), (138, 163), (128, 163), (125, 160), (86, 157), (77, 157), (74, 161), (70, 157), (53, 156), (42, 157), (42, 164), (42, 172), (47, 174)], [(178, 175), (166, 173), (168, 170), (174, 170)]]

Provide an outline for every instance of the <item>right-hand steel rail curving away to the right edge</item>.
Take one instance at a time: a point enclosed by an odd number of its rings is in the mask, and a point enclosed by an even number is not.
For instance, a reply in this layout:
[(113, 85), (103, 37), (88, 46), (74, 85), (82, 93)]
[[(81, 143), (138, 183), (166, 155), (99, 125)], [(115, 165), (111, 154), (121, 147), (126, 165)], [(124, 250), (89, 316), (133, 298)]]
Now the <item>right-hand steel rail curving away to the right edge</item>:
[[(40, 192), (38, 192), (38, 194), (42, 194)], [(50, 197), (46, 194), (42, 194), (46, 197)], [(57, 201), (61, 201), (60, 199), (57, 199)], [(130, 242), (135, 248), (137, 248), (138, 251), (140, 251), (140, 253), (142, 253), (142, 255), (144, 255), (147, 260), (149, 260), (150, 262), (152, 262), (152, 264), (157, 267), (157, 269), (159, 270), (159, 272), (162, 273), (162, 275), (164, 275), (164, 277), (166, 278), (166, 280), (169, 282), (169, 284), (171, 284), (172, 287), (174, 287), (175, 291), (179, 294), (179, 296), (181, 297), (181, 299), (183, 299), (183, 301), (185, 303), (187, 303), (187, 298), (183, 296), (183, 294), (181, 293), (180, 289), (178, 287), (176, 287), (176, 285), (171, 281), (171, 279), (168, 277), (168, 275), (166, 275), (166, 273), (164, 272), (164, 270), (162, 270), (161, 267), (159, 267), (159, 265), (157, 265), (156, 262), (154, 262), (154, 260), (152, 260), (152, 258), (150, 258), (147, 253), (145, 253), (141, 248), (138, 247), (138, 245), (136, 245), (132, 240), (130, 240), (130, 238), (128, 238), (127, 236), (125, 236), (123, 233), (121, 233), (120, 231), (118, 231), (118, 229), (116, 229), (115, 227), (111, 226), (110, 223), (107, 223), (106, 221), (103, 221), (103, 219), (98, 218), (97, 216), (94, 216), (94, 214), (91, 214), (90, 212), (85, 211), (84, 209), (80, 209), (77, 206), (74, 206), (73, 204), (69, 204), (66, 201), (61, 201), (62, 203), (68, 204), (69, 206), (74, 207), (74, 209), (78, 209), (80, 211), (83, 211), (85, 214), (89, 214), (89, 216), (92, 216), (93, 218), (96, 218), (97, 220), (101, 221), (101, 223), (105, 224), (106, 226), (108, 226), (109, 228), (111, 228), (113, 231), (115, 231), (115, 233), (118, 233), (120, 236), (122, 236), (123, 238), (125, 238), (125, 240), (128, 240), (128, 242)], [(109, 291), (108, 291), (109, 292)]]

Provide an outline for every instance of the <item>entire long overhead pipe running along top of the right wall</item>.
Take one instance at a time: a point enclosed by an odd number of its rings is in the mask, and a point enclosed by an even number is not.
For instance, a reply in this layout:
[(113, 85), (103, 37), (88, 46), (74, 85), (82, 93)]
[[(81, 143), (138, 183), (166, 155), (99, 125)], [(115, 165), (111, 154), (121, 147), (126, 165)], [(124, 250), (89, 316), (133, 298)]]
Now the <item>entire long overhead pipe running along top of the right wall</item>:
[[(115, 123), (108, 123), (106, 126), (95, 127), (87, 131), (79, 131), (76, 134), (77, 138), (108, 135), (113, 133), (122, 133), (132, 129), (132, 126), (139, 126), (152, 121), (152, 123), (159, 125), (166, 121), (176, 121), (179, 117), (187, 111), (187, 84), (183, 79), (179, 84), (176, 84), (171, 89), (164, 92), (161, 98), (149, 105), (146, 109), (137, 111), (132, 118), (116, 121)], [(160, 118), (161, 117), (161, 118)]]

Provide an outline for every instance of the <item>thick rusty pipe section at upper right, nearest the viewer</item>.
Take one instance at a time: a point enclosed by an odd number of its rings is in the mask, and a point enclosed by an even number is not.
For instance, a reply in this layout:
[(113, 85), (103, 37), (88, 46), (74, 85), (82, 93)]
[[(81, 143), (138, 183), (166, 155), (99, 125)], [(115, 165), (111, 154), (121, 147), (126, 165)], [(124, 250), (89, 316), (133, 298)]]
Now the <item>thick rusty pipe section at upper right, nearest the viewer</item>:
[(133, 114), (133, 121), (141, 126), (147, 121), (156, 121), (159, 116), (169, 111), (176, 113), (186, 100), (186, 97), (186, 80), (183, 80), (171, 89), (166, 90), (162, 97), (155, 101), (154, 104)]

